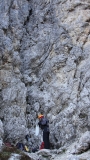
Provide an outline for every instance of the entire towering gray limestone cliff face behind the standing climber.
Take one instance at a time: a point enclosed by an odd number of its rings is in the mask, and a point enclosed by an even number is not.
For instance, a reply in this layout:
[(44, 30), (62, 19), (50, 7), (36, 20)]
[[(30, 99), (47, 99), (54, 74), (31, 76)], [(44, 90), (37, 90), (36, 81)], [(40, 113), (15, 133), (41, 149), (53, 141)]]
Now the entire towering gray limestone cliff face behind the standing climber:
[(38, 145), (39, 112), (52, 148), (90, 131), (90, 1), (1, 0), (0, 76), (6, 139)]

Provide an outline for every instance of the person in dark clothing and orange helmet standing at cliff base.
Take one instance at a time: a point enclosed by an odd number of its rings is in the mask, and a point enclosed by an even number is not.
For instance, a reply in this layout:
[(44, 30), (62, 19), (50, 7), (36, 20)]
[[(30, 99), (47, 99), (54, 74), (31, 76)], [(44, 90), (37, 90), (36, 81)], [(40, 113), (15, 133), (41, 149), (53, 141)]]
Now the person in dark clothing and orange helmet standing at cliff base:
[(49, 120), (44, 117), (44, 115), (40, 114), (38, 115), (38, 125), (43, 130), (43, 142), (44, 142), (44, 148), (50, 149), (50, 143), (49, 143)]

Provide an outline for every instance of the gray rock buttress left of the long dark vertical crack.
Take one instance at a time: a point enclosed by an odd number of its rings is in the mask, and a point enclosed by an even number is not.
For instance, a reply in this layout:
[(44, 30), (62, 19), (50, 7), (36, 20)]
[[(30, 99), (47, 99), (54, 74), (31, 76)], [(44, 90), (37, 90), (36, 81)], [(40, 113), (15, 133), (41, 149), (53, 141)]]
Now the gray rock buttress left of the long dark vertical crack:
[(22, 82), (19, 54), (27, 7), (27, 1), (0, 1), (0, 118), (5, 140), (22, 139), (28, 132), (25, 120), (27, 89)]

